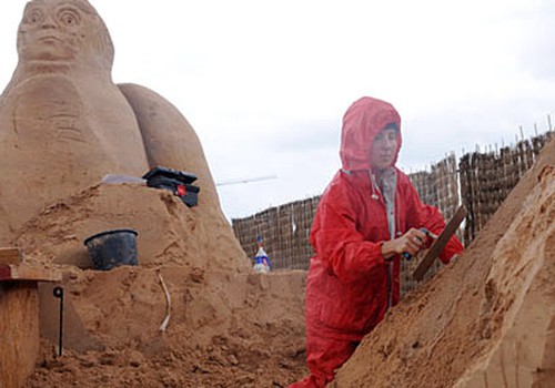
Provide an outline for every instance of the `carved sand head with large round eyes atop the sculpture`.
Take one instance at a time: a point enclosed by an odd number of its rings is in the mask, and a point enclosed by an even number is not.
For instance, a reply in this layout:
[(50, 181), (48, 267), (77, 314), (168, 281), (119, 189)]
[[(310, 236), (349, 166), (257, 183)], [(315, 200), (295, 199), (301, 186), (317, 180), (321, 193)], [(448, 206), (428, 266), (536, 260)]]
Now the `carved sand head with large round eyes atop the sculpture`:
[(97, 11), (84, 0), (34, 0), (18, 33), (20, 60), (100, 62), (111, 69), (113, 48)]

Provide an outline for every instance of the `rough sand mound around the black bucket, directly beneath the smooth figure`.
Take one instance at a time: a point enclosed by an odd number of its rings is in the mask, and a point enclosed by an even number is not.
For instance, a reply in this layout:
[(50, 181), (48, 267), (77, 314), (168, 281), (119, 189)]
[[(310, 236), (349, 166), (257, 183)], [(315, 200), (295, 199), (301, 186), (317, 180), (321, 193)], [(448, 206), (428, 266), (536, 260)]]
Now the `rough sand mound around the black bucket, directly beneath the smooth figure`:
[(14, 244), (24, 247), (28, 262), (92, 268), (83, 241), (115, 228), (139, 233), (141, 267), (250, 268), (218, 207), (186, 207), (169, 191), (135, 184), (100, 184), (57, 202), (28, 222)]

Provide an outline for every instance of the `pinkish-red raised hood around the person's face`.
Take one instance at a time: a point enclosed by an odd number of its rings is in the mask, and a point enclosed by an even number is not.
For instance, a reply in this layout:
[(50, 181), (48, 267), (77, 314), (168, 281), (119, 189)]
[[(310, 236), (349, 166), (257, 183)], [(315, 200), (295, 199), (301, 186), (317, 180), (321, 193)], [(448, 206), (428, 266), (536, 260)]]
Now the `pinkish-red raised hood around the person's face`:
[(397, 124), (397, 150), (393, 165), (401, 149), (401, 116), (389, 102), (364, 96), (347, 109), (343, 116), (341, 133), (341, 163), (343, 170), (370, 170), (370, 150), (374, 137), (389, 123)]

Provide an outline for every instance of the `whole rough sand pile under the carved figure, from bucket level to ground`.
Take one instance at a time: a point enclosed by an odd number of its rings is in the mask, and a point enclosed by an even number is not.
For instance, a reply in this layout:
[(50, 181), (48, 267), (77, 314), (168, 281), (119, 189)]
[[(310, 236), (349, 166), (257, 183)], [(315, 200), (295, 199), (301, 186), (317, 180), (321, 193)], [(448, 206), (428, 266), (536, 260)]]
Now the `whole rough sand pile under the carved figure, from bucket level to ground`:
[[(214, 212), (144, 185), (100, 184), (28, 222), (14, 244), (28, 263), (62, 270), (65, 290), (58, 357), (59, 300), (54, 285), (40, 286), (43, 355), (28, 386), (283, 387), (300, 378), (305, 273), (252, 273)], [(91, 269), (83, 239), (121, 227), (139, 232), (139, 266)]]

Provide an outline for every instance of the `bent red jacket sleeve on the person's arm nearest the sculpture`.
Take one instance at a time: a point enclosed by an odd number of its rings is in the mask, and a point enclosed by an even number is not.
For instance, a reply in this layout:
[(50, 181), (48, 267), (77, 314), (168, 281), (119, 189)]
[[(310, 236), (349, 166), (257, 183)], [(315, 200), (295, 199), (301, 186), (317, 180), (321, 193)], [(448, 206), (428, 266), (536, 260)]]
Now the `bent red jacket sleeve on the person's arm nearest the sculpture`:
[(345, 181), (334, 182), (322, 196), (311, 231), (311, 244), (326, 270), (342, 283), (367, 278), (384, 264), (381, 242), (365, 241), (356, 227), (361, 206)]

